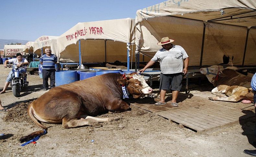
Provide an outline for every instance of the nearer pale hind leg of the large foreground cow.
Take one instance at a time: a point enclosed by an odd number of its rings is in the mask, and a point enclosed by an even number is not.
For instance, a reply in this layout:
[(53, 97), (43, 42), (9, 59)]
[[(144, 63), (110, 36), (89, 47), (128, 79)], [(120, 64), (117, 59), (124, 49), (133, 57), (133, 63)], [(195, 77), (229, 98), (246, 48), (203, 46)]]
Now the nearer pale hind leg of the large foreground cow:
[(62, 125), (64, 128), (75, 128), (80, 126), (92, 126), (95, 128), (102, 127), (102, 125), (99, 124), (98, 121), (91, 118), (87, 118), (87, 119), (81, 118), (81, 119), (71, 119), (71, 120), (66, 120), (65, 118), (63, 118)]

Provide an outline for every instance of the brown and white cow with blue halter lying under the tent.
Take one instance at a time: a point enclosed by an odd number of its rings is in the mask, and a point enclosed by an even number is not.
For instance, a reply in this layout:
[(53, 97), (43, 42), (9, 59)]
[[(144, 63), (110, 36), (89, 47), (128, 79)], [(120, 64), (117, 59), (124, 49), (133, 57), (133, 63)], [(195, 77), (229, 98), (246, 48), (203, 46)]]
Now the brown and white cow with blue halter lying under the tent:
[[(205, 74), (207, 79), (215, 86), (212, 94), (217, 96), (209, 97), (210, 100), (253, 102), (253, 92), (250, 87), (251, 77), (240, 74), (232, 68), (224, 69), (223, 66), (218, 65), (201, 68), (200, 73)], [(221, 94), (225, 94), (225, 96)]]

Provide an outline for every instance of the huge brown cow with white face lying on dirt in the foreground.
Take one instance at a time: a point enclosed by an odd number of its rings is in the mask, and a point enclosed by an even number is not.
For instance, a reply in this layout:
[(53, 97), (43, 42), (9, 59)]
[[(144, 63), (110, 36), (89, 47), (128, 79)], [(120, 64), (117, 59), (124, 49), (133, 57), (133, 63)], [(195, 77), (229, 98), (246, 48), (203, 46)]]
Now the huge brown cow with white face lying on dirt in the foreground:
[[(139, 73), (139, 72), (138, 72)], [(127, 91), (134, 98), (152, 92), (145, 79), (138, 73), (107, 73), (71, 84), (52, 88), (34, 100), (28, 107), (29, 117), (43, 129), (40, 122), (62, 123), (64, 128), (79, 126), (101, 127), (99, 122), (118, 120), (118, 117), (95, 118), (108, 111), (123, 112), (130, 110), (128, 103), (122, 100), (120, 84), (127, 85)], [(21, 142), (40, 134), (39, 131), (21, 138)]]

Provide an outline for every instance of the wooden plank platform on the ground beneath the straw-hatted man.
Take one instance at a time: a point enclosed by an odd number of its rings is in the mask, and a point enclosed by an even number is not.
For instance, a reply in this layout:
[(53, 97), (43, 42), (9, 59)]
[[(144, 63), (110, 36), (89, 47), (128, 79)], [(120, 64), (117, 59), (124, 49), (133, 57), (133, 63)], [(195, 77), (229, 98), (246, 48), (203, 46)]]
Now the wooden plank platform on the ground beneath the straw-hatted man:
[(187, 96), (179, 102), (179, 107), (171, 106), (170, 101), (161, 106), (142, 103), (132, 103), (131, 105), (167, 118), (169, 122), (176, 122), (180, 128), (192, 129), (198, 135), (211, 133), (255, 118), (252, 103), (212, 101), (208, 99), (209, 96), (212, 96), (210, 92), (193, 94), (192, 97)]

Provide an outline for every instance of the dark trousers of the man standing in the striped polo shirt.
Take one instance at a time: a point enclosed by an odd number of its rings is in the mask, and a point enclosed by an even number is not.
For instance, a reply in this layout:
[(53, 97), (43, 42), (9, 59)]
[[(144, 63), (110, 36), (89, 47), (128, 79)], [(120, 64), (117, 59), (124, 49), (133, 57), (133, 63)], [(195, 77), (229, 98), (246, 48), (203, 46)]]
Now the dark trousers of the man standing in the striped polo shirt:
[(51, 88), (55, 87), (55, 69), (45, 70), (42, 69), (42, 76), (43, 76), (43, 88), (48, 88), (48, 78), (51, 80)]

